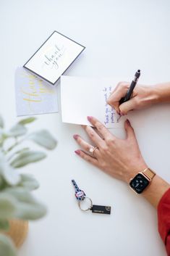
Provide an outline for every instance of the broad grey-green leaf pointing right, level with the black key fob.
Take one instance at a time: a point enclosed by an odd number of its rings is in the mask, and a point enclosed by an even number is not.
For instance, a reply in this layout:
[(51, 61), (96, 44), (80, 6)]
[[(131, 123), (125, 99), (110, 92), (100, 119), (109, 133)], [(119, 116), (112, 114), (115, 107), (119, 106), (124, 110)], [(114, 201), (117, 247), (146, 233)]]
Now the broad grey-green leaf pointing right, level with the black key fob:
[(46, 207), (41, 205), (29, 191), (22, 188), (9, 188), (4, 191), (17, 199), (16, 218), (36, 220), (46, 215)]

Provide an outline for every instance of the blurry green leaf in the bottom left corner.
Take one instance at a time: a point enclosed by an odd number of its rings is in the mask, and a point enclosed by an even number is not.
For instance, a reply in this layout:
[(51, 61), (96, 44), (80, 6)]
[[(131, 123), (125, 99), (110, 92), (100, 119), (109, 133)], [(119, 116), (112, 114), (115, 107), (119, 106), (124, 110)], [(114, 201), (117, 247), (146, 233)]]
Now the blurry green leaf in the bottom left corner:
[(0, 256), (17, 256), (17, 249), (8, 236), (0, 234)]

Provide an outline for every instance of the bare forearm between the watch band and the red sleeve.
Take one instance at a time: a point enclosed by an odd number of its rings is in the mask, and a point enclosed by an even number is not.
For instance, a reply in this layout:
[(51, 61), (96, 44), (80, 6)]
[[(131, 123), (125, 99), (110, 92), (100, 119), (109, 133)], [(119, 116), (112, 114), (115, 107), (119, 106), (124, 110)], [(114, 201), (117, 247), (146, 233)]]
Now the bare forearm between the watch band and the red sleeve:
[(150, 185), (143, 191), (143, 197), (145, 197), (153, 207), (157, 208), (158, 202), (169, 188), (169, 183), (156, 175)]

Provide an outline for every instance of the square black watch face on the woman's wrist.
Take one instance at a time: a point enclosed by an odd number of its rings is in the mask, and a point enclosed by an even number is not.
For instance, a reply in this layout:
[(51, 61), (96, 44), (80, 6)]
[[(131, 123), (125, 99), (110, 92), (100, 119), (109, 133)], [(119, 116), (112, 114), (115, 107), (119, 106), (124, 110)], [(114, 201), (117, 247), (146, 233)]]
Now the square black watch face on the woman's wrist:
[(143, 190), (148, 186), (149, 181), (147, 178), (143, 176), (143, 174), (138, 173), (135, 178), (130, 181), (129, 185), (133, 190), (137, 192), (137, 194), (140, 194), (143, 192)]

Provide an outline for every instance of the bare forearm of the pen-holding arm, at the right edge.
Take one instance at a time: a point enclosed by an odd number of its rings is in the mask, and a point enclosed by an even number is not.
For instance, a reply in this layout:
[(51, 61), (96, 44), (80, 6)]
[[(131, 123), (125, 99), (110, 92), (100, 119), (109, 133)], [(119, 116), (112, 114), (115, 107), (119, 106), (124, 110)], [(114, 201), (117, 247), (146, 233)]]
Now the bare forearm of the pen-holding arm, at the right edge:
[(158, 83), (152, 86), (152, 94), (153, 104), (170, 102), (170, 83)]

